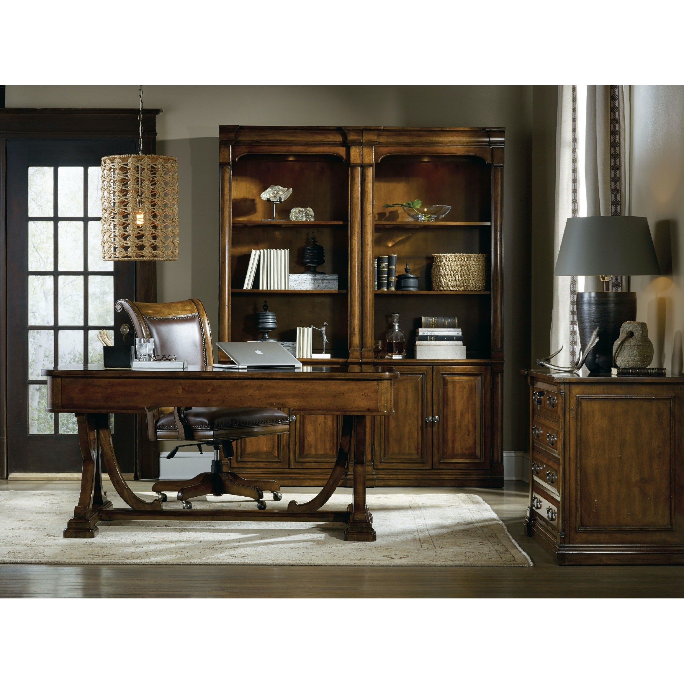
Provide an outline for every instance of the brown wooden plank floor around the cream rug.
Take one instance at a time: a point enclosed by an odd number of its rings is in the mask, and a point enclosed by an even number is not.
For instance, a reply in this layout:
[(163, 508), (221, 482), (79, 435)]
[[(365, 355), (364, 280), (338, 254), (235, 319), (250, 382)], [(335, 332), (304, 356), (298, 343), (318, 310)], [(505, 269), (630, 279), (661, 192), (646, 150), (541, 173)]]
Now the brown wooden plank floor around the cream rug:
[[(107, 483), (108, 484), (108, 483)], [(137, 483), (138, 486), (143, 483)], [(0, 481), (0, 490), (73, 490), (64, 481)], [(106, 487), (105, 487), (106, 488)], [(291, 488), (291, 491), (315, 491)], [(376, 488), (378, 494), (426, 490)], [(430, 492), (453, 490), (432, 489)], [(683, 566), (560, 567), (523, 534), (527, 486), (473, 488), (527, 551), (533, 568), (0, 565), (0, 596), (75, 597), (681, 597)], [(66, 521), (65, 521), (66, 522)], [(106, 534), (106, 530), (101, 533)]]

